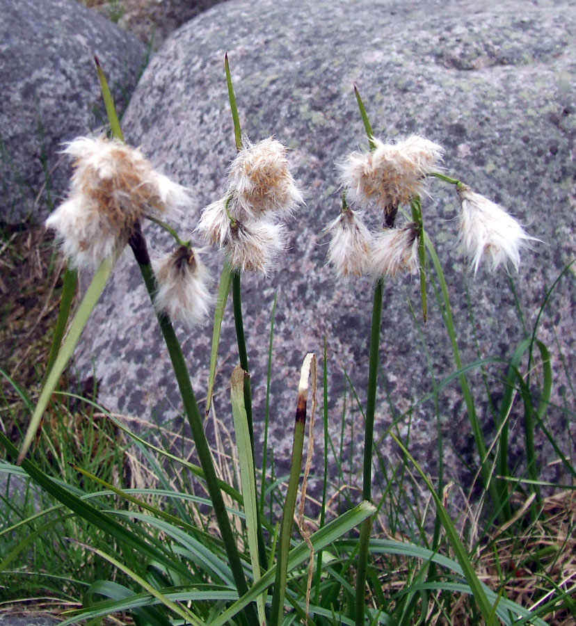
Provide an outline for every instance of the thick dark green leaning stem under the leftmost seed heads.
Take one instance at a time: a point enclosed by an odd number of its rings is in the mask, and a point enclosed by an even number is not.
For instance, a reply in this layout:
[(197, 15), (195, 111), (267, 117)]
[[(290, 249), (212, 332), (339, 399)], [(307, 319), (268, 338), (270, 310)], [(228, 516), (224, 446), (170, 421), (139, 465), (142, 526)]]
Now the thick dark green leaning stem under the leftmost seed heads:
[[(152, 271), (152, 265), (150, 264), (150, 256), (148, 255), (146, 241), (142, 234), (139, 225), (134, 229), (130, 241), (130, 247), (134, 252), (134, 257), (138, 262), (142, 278), (146, 285), (148, 294), (152, 303), (154, 303), (154, 294), (156, 293), (157, 284), (154, 272)], [(170, 361), (174, 369), (176, 380), (180, 394), (182, 395), (182, 402), (184, 403), (184, 410), (186, 411), (186, 417), (192, 430), (196, 451), (198, 452), (198, 458), (200, 459), (200, 465), (202, 466), (202, 472), (204, 472), (208, 493), (214, 507), (214, 515), (216, 515), (216, 521), (221, 532), (223, 544), (226, 550), (228, 561), (230, 562), (230, 569), (232, 570), (232, 576), (238, 591), (238, 595), (241, 597), (248, 592), (248, 586), (246, 579), (244, 578), (244, 572), (238, 547), (234, 540), (234, 534), (232, 533), (232, 527), (230, 527), (230, 520), (226, 513), (224, 506), (224, 500), (222, 492), (218, 486), (218, 479), (216, 476), (216, 470), (214, 469), (214, 463), (210, 454), (210, 449), (202, 425), (202, 417), (200, 417), (200, 410), (198, 410), (198, 403), (194, 390), (190, 382), (190, 376), (188, 368), (186, 367), (186, 361), (184, 360), (184, 354), (182, 353), (182, 347), (180, 346), (176, 333), (172, 326), (170, 318), (166, 314), (158, 314), (158, 323), (164, 341), (166, 342), (166, 348), (168, 348), (168, 354), (170, 355)], [(249, 624), (257, 625), (258, 619), (254, 610), (253, 604), (249, 604), (246, 607), (246, 618)]]

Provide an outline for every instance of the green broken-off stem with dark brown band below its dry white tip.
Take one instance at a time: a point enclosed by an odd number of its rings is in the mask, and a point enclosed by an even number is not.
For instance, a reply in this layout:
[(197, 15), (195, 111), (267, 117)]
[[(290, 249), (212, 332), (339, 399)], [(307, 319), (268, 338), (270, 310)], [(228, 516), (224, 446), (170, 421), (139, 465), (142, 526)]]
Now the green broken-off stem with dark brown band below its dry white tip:
[(288, 490), (282, 511), (282, 524), (280, 525), (280, 542), (278, 548), (278, 563), (276, 564), (276, 577), (272, 596), (272, 609), (270, 614), (270, 626), (282, 624), (286, 584), (288, 579), (288, 555), (290, 551), (290, 538), (296, 509), (296, 496), (298, 495), (298, 482), (302, 467), (302, 449), (304, 447), (304, 431), (306, 426), (306, 401), (298, 396), (298, 408), (294, 421), (294, 441), (292, 443), (292, 458)]

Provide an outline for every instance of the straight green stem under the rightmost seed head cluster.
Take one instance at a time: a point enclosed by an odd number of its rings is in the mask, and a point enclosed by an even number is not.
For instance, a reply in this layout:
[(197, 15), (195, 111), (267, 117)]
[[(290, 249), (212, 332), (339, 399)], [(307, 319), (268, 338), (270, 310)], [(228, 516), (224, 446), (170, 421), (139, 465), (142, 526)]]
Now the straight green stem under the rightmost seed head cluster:
[[(372, 448), (374, 447), (374, 413), (376, 412), (376, 391), (378, 387), (378, 358), (380, 354), (380, 326), (382, 321), (383, 279), (378, 279), (374, 288), (372, 306), (372, 326), (370, 332), (370, 361), (368, 369), (368, 398), (366, 403), (366, 422), (364, 433), (364, 475), (362, 481), (362, 499), (372, 498)], [(356, 573), (355, 623), (364, 624), (366, 604), (366, 572), (368, 567), (368, 548), (372, 518), (367, 517), (360, 527), (360, 547), (358, 549), (358, 568)]]

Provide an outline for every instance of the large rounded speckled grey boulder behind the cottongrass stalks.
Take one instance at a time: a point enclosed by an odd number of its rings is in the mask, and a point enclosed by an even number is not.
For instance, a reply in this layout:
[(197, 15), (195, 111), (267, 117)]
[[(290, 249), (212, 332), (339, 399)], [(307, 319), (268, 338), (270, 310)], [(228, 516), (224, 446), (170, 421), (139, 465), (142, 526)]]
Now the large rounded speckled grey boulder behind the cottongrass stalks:
[[(543, 241), (523, 255), (520, 274), (513, 275), (513, 291), (504, 271), (494, 276), (484, 268), (477, 276), (467, 272), (456, 245), (454, 189), (435, 182), (431, 198), (424, 202), (426, 225), (446, 270), (463, 362), (509, 358), (534, 327), (547, 289), (575, 254), (574, 32), (576, 8), (563, 1), (513, 1), (504, 8), (493, 0), (231, 0), (179, 29), (154, 56), (125, 116), (125, 133), (166, 173), (193, 188), (195, 208), (183, 219), (184, 232), (194, 227), (200, 209), (221, 195), (225, 169), (234, 157), (225, 51), (243, 131), (253, 141), (274, 134), (289, 145), (294, 174), (305, 191), (307, 204), (290, 222), (291, 248), (281, 267), (269, 279), (247, 276), (243, 281), (259, 442), (269, 321), (273, 296), (278, 294), (270, 424), (278, 473), (286, 470), (289, 460), (301, 362), (309, 351), (321, 355), (324, 337), (330, 436), (336, 449), (346, 375), (362, 402), (365, 399), (371, 284), (336, 280), (326, 266), (327, 246), (321, 236), (339, 211), (335, 161), (366, 143), (353, 83), (360, 88), (377, 136), (417, 132), (441, 143), (448, 172), (509, 207)], [(157, 237), (157, 230), (147, 232), (154, 241), (166, 242)], [(221, 259), (215, 250), (208, 260), (218, 275)], [(456, 368), (433, 293), (431, 288), (429, 321), (417, 331), (408, 302), (417, 310), (419, 282), (407, 278), (386, 284), (376, 447), (387, 463), (397, 463), (397, 449), (385, 437), (386, 428), (397, 419), (410, 450), (435, 475), (435, 412), (431, 401), (419, 401), (432, 389), (429, 368), (436, 383)], [(472, 313), (468, 299), (474, 303)], [(538, 329), (538, 337), (553, 353), (553, 399), (560, 404), (569, 394), (564, 372), (573, 372), (576, 366), (574, 302), (574, 281), (564, 279)], [(211, 328), (177, 332), (202, 398)], [(155, 415), (163, 422), (181, 410), (166, 351), (129, 257), (115, 269), (77, 358), (84, 371), (95, 360), (105, 406), (143, 417)], [(215, 401), (217, 415), (227, 425), (232, 421), (227, 380), (236, 362), (229, 310)], [(490, 381), (494, 383), (502, 372), (490, 369)], [(470, 380), (486, 433), (493, 433), (477, 370)], [(362, 418), (351, 395), (346, 390), (343, 463), (348, 468), (353, 459), (354, 481), (360, 474)], [(502, 385), (494, 383), (496, 406), (501, 396)], [(573, 402), (566, 397), (566, 402)], [(456, 480), (470, 481), (474, 445), (456, 382), (442, 390), (439, 406), (447, 472)], [(515, 460), (521, 458), (523, 447), (518, 415), (520, 409), (513, 412), (511, 441), (513, 452), (520, 455)], [(566, 450), (573, 451), (574, 424), (563, 423), (554, 410), (549, 416), (550, 428)], [(537, 445), (542, 458), (550, 458), (540, 433)], [(315, 463), (319, 458), (317, 454)], [(552, 472), (550, 479), (554, 478)]]

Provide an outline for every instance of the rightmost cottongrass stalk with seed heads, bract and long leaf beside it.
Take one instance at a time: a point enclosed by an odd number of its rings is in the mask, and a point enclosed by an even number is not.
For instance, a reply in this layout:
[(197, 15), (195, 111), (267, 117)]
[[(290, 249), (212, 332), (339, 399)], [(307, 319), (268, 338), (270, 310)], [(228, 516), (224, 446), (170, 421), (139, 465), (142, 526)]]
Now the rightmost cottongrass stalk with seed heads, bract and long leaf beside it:
[[(375, 281), (362, 481), (362, 497), (370, 501), (383, 280), (385, 277), (395, 277), (400, 273), (419, 273), (422, 312), (426, 321), (426, 247), (429, 248), (435, 270), (440, 275), (443, 285), (445, 320), (457, 367), (462, 368), (442, 267), (424, 231), (421, 197), (423, 194), (429, 194), (427, 187), (429, 179), (438, 177), (456, 186), (461, 200), (460, 239), (465, 254), (471, 257), (474, 272), (477, 271), (482, 257), (488, 257), (493, 271), (507, 260), (518, 271), (520, 248), (532, 238), (504, 209), (474, 193), (457, 179), (451, 179), (442, 174), (440, 171), (444, 154), (442, 146), (417, 135), (395, 143), (383, 143), (376, 138), (358, 90), (355, 90), (355, 94), (367, 131), (370, 149), (368, 152), (352, 152), (340, 165), (340, 179), (344, 187), (342, 210), (339, 217), (328, 225), (326, 232), (331, 234), (328, 262), (335, 268), (335, 271), (344, 277), (365, 273), (371, 275)], [(352, 211), (347, 204), (348, 201), (358, 211)], [(397, 227), (396, 220), (401, 207), (410, 209), (413, 221)], [(381, 214), (383, 227), (376, 232), (369, 232), (364, 223), (367, 211), (371, 208), (383, 211), (383, 215)], [(460, 376), (460, 381), (479, 452), (484, 485), (487, 490), (490, 490), (495, 510), (502, 515), (502, 511), (506, 511), (505, 503), (501, 499), (502, 490), (499, 492), (491, 481), (487, 447), (474, 410), (472, 394), (463, 374)], [(433, 492), (433, 496), (437, 499), (437, 504), (441, 505), (438, 495)], [(437, 525), (442, 517), (440, 508), (438, 516)], [(447, 522), (447, 520), (443, 521)], [(370, 534), (371, 518), (368, 517), (362, 523), (360, 530), (355, 590), (356, 626), (362, 626), (365, 623), (365, 586)], [(452, 534), (452, 540), (453, 544), (458, 543), (454, 534)], [(477, 585), (474, 577), (474, 572), (469, 569), (467, 578), (473, 586)], [(481, 603), (480, 608), (484, 618), (488, 619), (491, 614), (488, 603)]]

